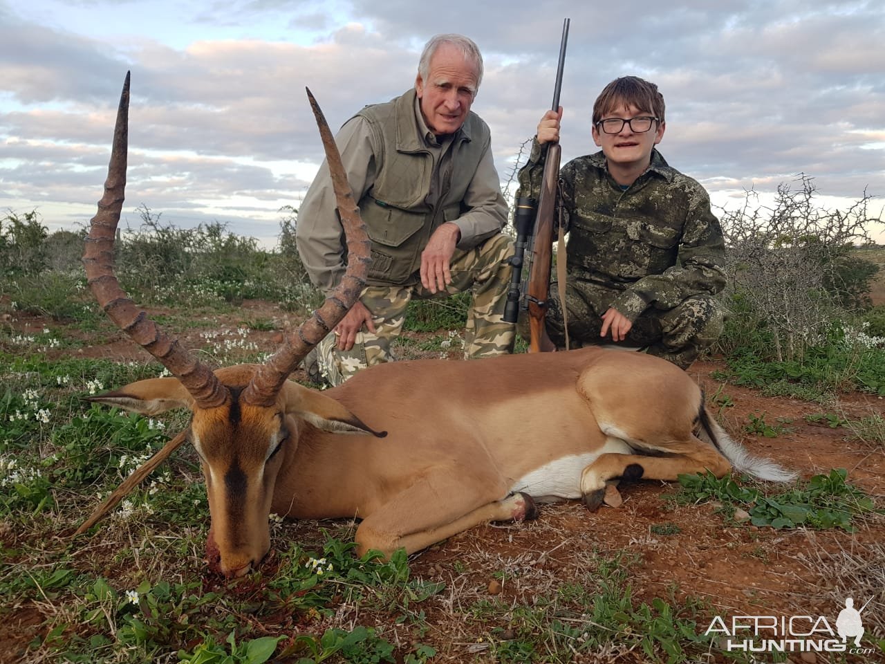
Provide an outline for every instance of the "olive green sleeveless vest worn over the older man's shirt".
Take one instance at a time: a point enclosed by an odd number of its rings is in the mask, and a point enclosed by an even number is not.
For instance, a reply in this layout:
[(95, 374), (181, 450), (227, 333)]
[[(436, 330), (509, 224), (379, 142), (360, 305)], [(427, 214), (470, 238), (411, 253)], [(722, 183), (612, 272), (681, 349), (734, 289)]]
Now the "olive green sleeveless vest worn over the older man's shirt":
[(435, 205), (428, 205), (434, 163), (415, 118), (415, 90), (385, 104), (366, 106), (357, 115), (368, 122), (376, 146), (377, 175), (358, 204), (372, 240), (367, 281), (373, 285), (415, 282), (421, 251), (430, 235), (467, 211), (464, 197), (489, 147), (489, 127), (478, 115), (468, 113), (450, 146), (450, 157), (443, 159), (439, 196)]

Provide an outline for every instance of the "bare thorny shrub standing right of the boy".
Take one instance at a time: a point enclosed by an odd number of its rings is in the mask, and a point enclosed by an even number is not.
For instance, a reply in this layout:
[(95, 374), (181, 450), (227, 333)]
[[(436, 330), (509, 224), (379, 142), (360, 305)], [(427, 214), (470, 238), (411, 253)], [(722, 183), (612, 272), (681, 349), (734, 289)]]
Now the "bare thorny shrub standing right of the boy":
[(862, 305), (875, 266), (851, 256), (856, 243), (870, 243), (866, 195), (847, 212), (817, 201), (812, 178), (778, 187), (773, 207), (750, 205), (754, 192), (734, 211), (722, 211), (726, 238), (727, 300), (735, 316), (722, 344), (727, 351), (750, 340), (748, 351), (766, 359), (801, 360), (820, 344), (834, 321)]

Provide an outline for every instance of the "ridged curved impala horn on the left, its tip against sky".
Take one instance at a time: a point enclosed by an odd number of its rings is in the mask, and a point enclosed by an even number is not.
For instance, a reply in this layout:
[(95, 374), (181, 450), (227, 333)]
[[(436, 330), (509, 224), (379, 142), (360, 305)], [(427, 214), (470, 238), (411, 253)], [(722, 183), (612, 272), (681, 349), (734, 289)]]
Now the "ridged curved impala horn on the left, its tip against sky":
[(92, 218), (83, 265), (89, 287), (105, 313), (136, 344), (157, 358), (177, 377), (201, 408), (219, 406), (227, 399), (227, 388), (212, 370), (179, 343), (166, 335), (148, 314), (135, 306), (122, 290), (114, 274), (113, 243), (123, 209), (126, 190), (127, 143), (129, 132), (129, 73), (119, 97), (117, 124), (114, 127), (111, 162), (104, 182), (104, 196), (98, 201), (98, 212)]

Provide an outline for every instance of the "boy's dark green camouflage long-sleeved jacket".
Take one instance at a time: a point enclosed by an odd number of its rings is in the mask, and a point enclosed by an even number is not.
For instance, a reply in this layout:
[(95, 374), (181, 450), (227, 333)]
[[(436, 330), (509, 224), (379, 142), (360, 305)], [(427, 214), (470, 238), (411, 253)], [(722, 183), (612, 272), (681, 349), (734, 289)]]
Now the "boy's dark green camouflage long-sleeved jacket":
[[(535, 140), (518, 197), (537, 197), (544, 154)], [(601, 151), (568, 162), (559, 182), (570, 283), (612, 290), (611, 306), (629, 320), (725, 287), (725, 245), (710, 197), (657, 150), (627, 189), (609, 175)]]

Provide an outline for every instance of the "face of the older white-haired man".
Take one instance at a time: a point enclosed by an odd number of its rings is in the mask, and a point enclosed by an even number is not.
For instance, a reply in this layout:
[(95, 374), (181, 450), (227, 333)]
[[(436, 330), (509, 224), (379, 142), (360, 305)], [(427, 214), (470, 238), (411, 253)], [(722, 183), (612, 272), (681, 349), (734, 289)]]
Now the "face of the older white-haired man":
[(427, 81), (420, 73), (415, 90), (421, 100), (421, 115), (435, 135), (454, 134), (476, 97), (476, 68), (451, 44), (442, 44), (430, 59)]

